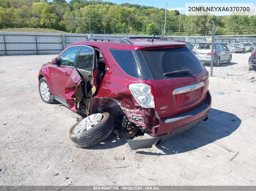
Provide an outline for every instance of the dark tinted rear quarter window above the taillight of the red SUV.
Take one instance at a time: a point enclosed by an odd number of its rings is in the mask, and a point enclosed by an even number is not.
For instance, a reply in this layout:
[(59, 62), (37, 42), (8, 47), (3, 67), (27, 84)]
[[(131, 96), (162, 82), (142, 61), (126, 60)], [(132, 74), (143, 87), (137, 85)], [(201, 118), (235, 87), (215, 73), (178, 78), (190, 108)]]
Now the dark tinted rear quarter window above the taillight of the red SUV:
[(109, 50), (122, 70), (135, 78), (142, 79), (140, 69), (131, 50)]

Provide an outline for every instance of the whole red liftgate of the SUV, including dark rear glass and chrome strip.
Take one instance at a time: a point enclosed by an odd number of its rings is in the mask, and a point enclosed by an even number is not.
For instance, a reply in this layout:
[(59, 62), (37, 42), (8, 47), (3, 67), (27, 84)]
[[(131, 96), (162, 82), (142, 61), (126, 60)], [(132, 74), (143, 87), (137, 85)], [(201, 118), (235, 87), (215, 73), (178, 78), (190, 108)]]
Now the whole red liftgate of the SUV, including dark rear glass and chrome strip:
[[(153, 78), (145, 82), (154, 88), (161, 118), (184, 113), (202, 103), (208, 91), (207, 71), (187, 47), (141, 50), (141, 54)], [(181, 70), (189, 72), (166, 75)]]

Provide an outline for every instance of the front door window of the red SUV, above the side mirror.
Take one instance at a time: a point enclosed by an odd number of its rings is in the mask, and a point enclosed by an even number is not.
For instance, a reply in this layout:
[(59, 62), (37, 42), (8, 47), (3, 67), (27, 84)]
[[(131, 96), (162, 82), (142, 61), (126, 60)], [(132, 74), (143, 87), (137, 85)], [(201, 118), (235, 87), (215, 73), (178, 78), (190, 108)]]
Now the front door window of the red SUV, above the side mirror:
[(64, 66), (74, 66), (75, 56), (79, 46), (74, 46), (67, 49), (62, 55), (58, 58), (58, 64)]

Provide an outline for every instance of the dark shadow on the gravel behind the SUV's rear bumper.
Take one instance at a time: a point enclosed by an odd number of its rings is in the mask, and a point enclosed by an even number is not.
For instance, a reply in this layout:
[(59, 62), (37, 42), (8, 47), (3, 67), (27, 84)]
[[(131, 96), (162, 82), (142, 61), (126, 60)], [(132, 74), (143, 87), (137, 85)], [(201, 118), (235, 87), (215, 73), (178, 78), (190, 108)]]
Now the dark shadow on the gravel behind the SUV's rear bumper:
[[(241, 124), (236, 115), (211, 108), (207, 121), (202, 121), (194, 128), (161, 142), (157, 147), (164, 153), (137, 151), (146, 155), (170, 155), (191, 151), (208, 145), (234, 132)], [(225, 145), (229, 148), (229, 145)], [(219, 149), (223, 149), (219, 147)], [(232, 149), (232, 148), (230, 148)]]

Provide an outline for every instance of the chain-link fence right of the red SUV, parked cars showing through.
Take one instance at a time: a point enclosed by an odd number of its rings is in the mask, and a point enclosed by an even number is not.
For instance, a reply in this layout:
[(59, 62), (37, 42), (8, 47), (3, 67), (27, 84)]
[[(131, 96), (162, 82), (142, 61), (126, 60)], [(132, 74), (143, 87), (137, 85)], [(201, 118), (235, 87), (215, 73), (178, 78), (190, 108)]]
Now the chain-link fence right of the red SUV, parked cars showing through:
[(256, 35), (171, 38), (187, 43), (211, 76), (241, 75), (245, 71), (256, 71)]

